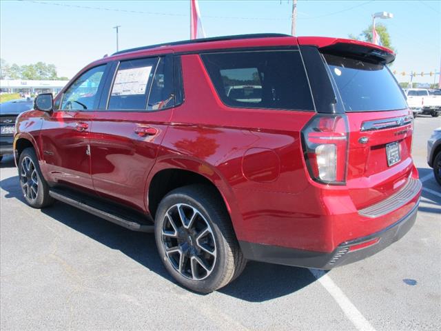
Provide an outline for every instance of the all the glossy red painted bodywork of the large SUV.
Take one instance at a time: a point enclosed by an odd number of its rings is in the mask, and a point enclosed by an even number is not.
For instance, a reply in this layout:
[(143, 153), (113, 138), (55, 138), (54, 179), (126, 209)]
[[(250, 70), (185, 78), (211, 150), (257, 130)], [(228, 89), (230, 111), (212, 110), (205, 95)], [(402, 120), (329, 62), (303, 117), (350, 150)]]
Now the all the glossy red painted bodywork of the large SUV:
[[(317, 183), (309, 176), (301, 143), (301, 131), (315, 112), (227, 107), (201, 57), (186, 53), (298, 44), (321, 48), (342, 42), (390, 52), (346, 39), (277, 37), (166, 46), (107, 57), (83, 71), (114, 60), (183, 53), (185, 102), (158, 112), (28, 112), (19, 119), (16, 139), (32, 137), (41, 150), (41, 170), (48, 181), (81, 186), (146, 214), (147, 191), (155, 174), (165, 169), (201, 174), (222, 194), (239, 241), (332, 252), (340, 243), (395, 223), (418, 203), (419, 194), (382, 217), (368, 219), (358, 213), (398, 192), (409, 177), (418, 178), (410, 155), (412, 125), (360, 131), (365, 121), (402, 117), (409, 110), (347, 113), (347, 182)], [(40, 128), (44, 122), (41, 132), (37, 120)], [(89, 123), (88, 132), (74, 132), (75, 121)], [(136, 134), (140, 127), (156, 134)], [(360, 144), (362, 137), (369, 142)], [(384, 146), (392, 141), (399, 142), (402, 159), (389, 167)], [(88, 144), (90, 157), (85, 154)], [(44, 153), (52, 150), (57, 154)]]

